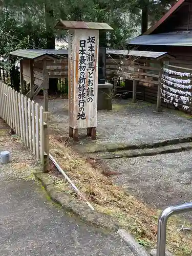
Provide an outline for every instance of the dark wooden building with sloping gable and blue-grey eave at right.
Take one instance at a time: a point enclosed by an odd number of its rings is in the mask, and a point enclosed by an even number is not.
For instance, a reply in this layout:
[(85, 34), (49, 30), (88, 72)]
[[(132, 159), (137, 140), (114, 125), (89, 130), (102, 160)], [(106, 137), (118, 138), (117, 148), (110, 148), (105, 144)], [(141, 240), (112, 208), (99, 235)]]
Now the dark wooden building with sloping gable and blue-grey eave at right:
[[(150, 29), (144, 34), (129, 41), (129, 44), (142, 51), (166, 52), (175, 56), (174, 59), (165, 60), (164, 67), (176, 72), (188, 72), (192, 76), (192, 0), (178, 0), (178, 2)], [(174, 75), (172, 76), (174, 78)], [(191, 80), (192, 81), (192, 80)], [(191, 85), (189, 84), (189, 92)], [(131, 85), (129, 87), (131, 89)], [(182, 90), (182, 89), (181, 89)], [(157, 99), (157, 88), (138, 87), (137, 98), (154, 103)], [(139, 94), (143, 92), (143, 94)], [(167, 103), (168, 102), (168, 103)], [(175, 108), (167, 100), (162, 99), (162, 105)], [(192, 104), (187, 102), (190, 110)], [(181, 108), (180, 108), (181, 107)], [(182, 109), (182, 102), (179, 100), (178, 108)]]

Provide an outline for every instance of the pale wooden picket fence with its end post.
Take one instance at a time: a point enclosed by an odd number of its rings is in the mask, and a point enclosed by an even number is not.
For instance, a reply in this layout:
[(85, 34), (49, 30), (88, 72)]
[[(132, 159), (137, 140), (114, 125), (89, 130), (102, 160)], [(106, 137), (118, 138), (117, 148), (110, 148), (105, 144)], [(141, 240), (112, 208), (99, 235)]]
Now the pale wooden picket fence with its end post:
[(48, 112), (0, 82), (0, 116), (41, 160), (46, 171), (49, 162)]

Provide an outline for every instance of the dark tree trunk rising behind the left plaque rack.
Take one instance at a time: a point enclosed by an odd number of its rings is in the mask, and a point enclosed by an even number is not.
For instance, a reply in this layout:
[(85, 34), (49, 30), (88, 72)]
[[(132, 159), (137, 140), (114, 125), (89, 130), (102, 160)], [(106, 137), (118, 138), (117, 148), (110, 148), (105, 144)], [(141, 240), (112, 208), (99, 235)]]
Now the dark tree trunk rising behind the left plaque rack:
[[(55, 49), (55, 35), (50, 26), (51, 20), (54, 18), (53, 10), (50, 10), (49, 6), (45, 4), (45, 17), (46, 17), (46, 30), (47, 30), (47, 49)], [(49, 94), (56, 94), (57, 90), (57, 78), (49, 78)]]

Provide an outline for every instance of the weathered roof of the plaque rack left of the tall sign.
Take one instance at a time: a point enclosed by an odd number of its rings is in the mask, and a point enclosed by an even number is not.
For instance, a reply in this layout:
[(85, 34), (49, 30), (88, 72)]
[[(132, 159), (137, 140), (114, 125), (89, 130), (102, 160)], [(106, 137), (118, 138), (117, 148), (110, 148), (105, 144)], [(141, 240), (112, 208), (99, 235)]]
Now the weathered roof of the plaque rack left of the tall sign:
[(61, 54), (68, 54), (67, 50), (35, 50), (35, 49), (27, 49), (27, 50), (16, 50), (13, 52), (10, 52), (10, 55), (13, 56), (18, 56), (18, 57), (23, 57), (26, 59), (37, 59), (40, 57), (48, 57), (48, 58), (58, 58), (57, 55), (61, 55)]

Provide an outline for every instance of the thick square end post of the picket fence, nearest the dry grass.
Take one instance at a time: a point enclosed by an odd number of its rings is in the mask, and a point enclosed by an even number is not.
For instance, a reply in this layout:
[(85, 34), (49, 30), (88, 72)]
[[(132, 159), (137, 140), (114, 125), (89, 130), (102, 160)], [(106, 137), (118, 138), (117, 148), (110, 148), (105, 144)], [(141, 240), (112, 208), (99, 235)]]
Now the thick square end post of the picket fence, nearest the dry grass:
[(49, 169), (49, 112), (44, 112), (44, 173)]

